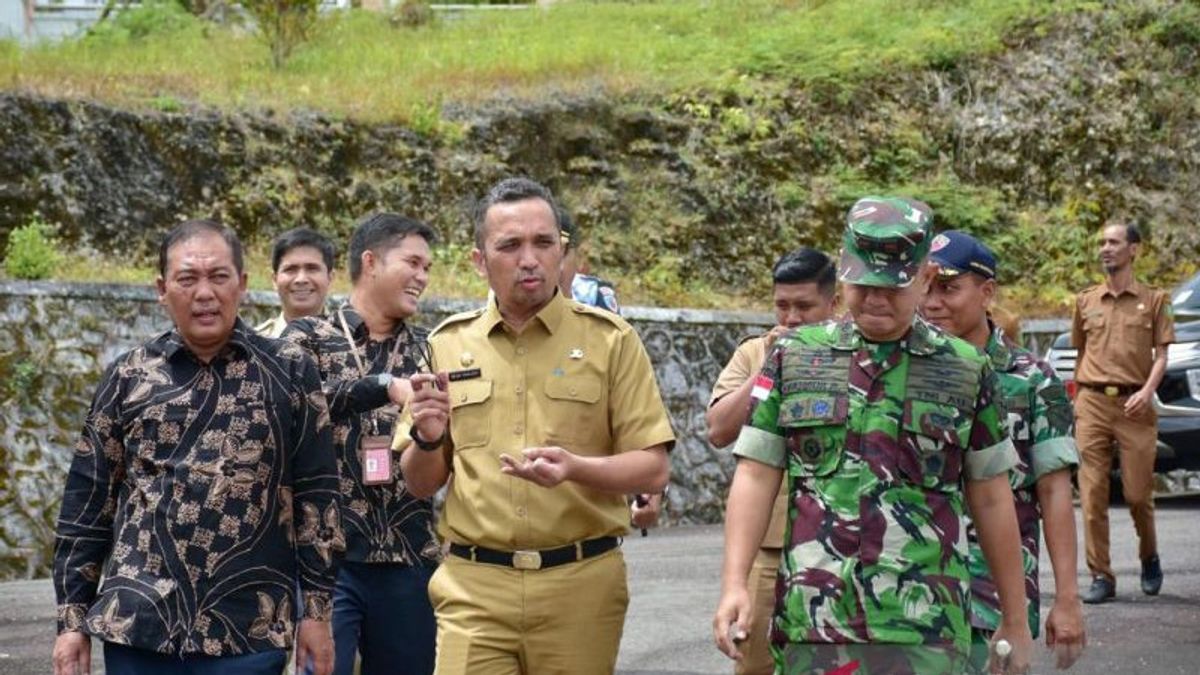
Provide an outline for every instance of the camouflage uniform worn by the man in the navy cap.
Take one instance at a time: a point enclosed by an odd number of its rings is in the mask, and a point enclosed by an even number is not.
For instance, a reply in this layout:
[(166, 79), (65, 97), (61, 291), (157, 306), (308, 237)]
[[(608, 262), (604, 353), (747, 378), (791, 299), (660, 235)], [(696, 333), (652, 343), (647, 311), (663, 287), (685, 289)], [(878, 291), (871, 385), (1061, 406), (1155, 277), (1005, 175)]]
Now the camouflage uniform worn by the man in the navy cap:
[[(1008, 434), (1016, 447), (1016, 466), (1008, 476), (1016, 501), (1016, 522), (1021, 530), (1030, 631), (1037, 638), (1040, 623), (1038, 556), (1042, 540), (1037, 483), (1043, 476), (1079, 466), (1073, 436), (1074, 413), (1067, 388), (1054, 369), (1015, 345), (998, 327), (992, 327), (985, 352), (1000, 378), (1001, 395), (1008, 411)], [(971, 571), (971, 626), (996, 631), (1001, 619), (1000, 595), (970, 518), (967, 543), (971, 552), (967, 563)]]

